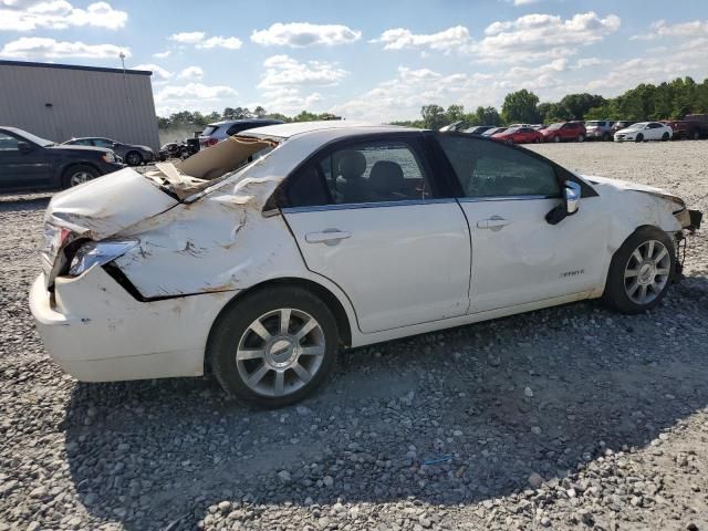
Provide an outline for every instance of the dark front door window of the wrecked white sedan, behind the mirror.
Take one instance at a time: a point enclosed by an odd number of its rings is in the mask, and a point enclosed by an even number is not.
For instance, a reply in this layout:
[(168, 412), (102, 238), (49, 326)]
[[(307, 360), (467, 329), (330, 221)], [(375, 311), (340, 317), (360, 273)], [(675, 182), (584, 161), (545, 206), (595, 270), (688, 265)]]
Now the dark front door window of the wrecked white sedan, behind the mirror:
[(560, 195), (553, 167), (520, 149), (460, 136), (439, 142), (465, 197)]

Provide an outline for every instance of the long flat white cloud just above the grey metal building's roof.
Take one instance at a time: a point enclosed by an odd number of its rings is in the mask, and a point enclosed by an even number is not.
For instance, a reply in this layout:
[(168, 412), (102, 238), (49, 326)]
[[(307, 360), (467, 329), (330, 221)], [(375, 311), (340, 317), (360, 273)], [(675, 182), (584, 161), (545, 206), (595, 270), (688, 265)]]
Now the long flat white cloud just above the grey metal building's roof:
[(8, 42), (0, 50), (0, 56), (15, 59), (112, 58), (117, 60), (121, 52), (125, 53), (127, 58), (131, 56), (129, 49), (115, 44), (85, 44), (80, 41), (70, 42), (40, 37), (22, 37), (17, 41)]

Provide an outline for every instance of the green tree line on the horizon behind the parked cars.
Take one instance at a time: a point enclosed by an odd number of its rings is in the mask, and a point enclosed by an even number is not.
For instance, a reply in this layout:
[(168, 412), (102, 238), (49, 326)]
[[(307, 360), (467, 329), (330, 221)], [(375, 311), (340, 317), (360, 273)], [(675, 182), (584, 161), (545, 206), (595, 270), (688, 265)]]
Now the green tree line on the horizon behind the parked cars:
[[(569, 119), (676, 119), (687, 114), (708, 113), (708, 79), (696, 83), (691, 77), (653, 85), (642, 83), (617, 97), (605, 98), (597, 94), (568, 94), (559, 102), (541, 102), (539, 96), (525, 88), (507, 94), (501, 111), (496, 107), (477, 107), (466, 112), (462, 105), (444, 108), (437, 104), (424, 105), (420, 119), (392, 122), (396, 125), (438, 129), (454, 122), (472, 125), (551, 124)], [(163, 129), (170, 127), (200, 128), (220, 119), (270, 117), (283, 122), (310, 122), (315, 119), (337, 119), (330, 113), (303, 111), (296, 116), (268, 113), (258, 106), (226, 107), (222, 113), (190, 113), (183, 111), (169, 117), (158, 118)]]

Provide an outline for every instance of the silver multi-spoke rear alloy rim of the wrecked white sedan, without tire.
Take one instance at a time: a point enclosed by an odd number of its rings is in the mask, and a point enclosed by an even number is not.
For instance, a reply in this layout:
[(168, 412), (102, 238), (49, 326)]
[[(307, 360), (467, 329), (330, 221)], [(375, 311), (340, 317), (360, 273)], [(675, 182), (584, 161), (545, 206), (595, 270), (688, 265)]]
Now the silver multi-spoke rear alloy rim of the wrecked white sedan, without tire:
[(310, 314), (282, 308), (254, 320), (241, 335), (236, 365), (242, 382), (264, 396), (287, 396), (310, 382), (325, 354), (324, 332)]

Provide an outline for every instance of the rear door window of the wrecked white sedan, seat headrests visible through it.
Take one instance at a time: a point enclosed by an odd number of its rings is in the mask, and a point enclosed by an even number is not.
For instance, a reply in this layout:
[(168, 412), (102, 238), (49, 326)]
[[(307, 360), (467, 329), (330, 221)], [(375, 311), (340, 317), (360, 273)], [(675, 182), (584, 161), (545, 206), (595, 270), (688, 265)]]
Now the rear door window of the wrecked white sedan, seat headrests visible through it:
[(310, 163), (287, 188), (293, 207), (403, 201), (430, 197), (410, 145), (378, 140), (337, 149)]

